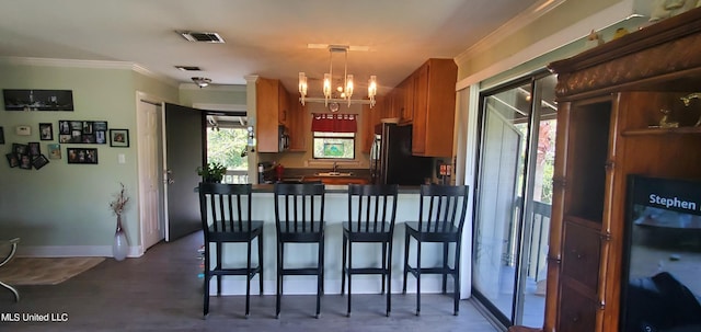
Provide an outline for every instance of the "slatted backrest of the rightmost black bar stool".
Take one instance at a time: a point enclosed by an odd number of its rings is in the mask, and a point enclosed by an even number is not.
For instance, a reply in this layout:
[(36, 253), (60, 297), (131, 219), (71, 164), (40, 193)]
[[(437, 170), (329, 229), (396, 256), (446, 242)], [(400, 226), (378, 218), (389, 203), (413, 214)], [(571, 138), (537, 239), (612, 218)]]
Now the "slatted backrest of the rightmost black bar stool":
[(462, 233), (468, 209), (468, 186), (424, 184), (420, 192), (418, 228)]

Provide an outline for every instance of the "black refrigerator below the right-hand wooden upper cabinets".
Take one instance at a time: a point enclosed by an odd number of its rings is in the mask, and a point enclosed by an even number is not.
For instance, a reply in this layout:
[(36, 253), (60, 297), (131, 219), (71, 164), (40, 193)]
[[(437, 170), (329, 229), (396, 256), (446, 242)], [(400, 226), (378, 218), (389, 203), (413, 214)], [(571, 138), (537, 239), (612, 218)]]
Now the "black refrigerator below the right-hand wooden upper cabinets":
[(420, 185), (432, 179), (433, 158), (412, 156), (412, 126), (380, 124), (370, 150), (372, 183)]

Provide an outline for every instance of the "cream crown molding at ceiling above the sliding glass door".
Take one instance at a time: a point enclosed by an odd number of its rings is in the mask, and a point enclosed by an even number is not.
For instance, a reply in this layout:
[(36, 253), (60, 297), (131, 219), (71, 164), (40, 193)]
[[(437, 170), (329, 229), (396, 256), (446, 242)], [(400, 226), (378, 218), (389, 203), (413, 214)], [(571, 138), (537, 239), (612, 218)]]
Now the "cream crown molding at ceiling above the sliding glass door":
[(514, 32), (522, 28), (524, 26), (535, 22), (540, 16), (547, 14), (551, 10), (558, 8), (560, 4), (564, 3), (567, 0), (540, 0), (529, 7), (527, 10), (516, 15), (506, 24), (499, 26), (493, 33), (489, 34), (484, 38), (476, 42), (474, 45), (470, 46), (470, 48), (466, 49), (461, 54), (459, 54), (455, 60), (456, 64), (463, 64), (468, 59), (470, 59), (474, 55), (479, 55), (504, 41), (506, 37), (514, 34)]

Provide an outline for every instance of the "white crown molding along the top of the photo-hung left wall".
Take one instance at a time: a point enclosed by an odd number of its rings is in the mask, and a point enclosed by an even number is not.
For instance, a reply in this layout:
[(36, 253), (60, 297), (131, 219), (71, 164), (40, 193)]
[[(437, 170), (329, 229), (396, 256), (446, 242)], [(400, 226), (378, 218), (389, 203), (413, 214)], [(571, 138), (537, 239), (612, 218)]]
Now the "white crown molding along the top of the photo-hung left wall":
[(106, 61), (106, 60), (78, 60), (78, 59), (57, 59), (57, 58), (32, 58), (32, 57), (0, 57), (0, 64), (15, 66), (45, 66), (45, 67), (64, 67), (64, 68), (89, 68), (89, 69), (122, 69), (131, 70), (134, 72), (160, 80), (171, 87), (177, 87), (179, 82), (156, 73), (138, 64), (128, 61)]

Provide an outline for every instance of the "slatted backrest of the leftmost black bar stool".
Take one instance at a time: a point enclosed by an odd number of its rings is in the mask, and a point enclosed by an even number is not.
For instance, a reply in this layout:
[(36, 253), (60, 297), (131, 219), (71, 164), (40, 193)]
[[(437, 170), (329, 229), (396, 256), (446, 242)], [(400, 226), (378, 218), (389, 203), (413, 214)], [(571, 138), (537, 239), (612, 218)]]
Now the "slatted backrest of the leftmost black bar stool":
[(209, 232), (251, 231), (251, 184), (199, 183), (205, 241)]

